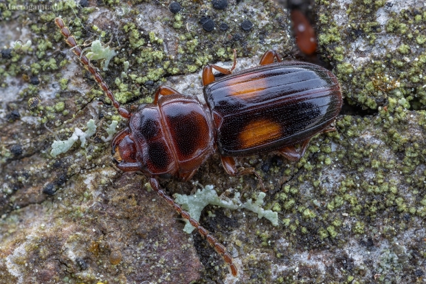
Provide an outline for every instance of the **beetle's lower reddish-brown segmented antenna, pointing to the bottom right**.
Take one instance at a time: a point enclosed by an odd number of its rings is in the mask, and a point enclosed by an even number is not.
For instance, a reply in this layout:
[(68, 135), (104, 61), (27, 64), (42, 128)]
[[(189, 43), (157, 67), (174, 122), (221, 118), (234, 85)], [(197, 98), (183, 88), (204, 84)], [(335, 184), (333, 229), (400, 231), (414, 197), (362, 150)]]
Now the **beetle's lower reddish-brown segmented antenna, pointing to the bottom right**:
[(190, 221), (191, 225), (197, 228), (197, 230), (201, 234), (201, 237), (207, 239), (207, 241), (210, 243), (210, 245), (212, 245), (214, 250), (216, 250), (218, 254), (221, 254), (225, 263), (229, 265), (232, 275), (236, 276), (238, 274), (238, 270), (236, 269), (236, 265), (232, 262), (233, 259), (231, 254), (229, 254), (229, 252), (226, 251), (225, 245), (219, 243), (218, 240), (215, 237), (213, 237), (213, 235), (210, 234), (208, 230), (203, 228), (203, 226), (201, 226), (196, 219), (191, 218), (190, 213), (183, 210), (183, 208), (179, 204), (177, 204), (171, 197), (166, 195), (166, 193), (164, 193), (164, 190), (160, 188), (157, 179), (155, 179), (154, 177), (150, 177), (149, 183), (151, 187), (153, 188), (153, 190), (155, 190), (159, 196), (163, 197), (163, 199), (166, 200), (167, 203), (170, 206), (172, 206), (176, 212), (179, 213), (179, 215), (181, 215), (184, 219), (187, 219), (188, 221)]

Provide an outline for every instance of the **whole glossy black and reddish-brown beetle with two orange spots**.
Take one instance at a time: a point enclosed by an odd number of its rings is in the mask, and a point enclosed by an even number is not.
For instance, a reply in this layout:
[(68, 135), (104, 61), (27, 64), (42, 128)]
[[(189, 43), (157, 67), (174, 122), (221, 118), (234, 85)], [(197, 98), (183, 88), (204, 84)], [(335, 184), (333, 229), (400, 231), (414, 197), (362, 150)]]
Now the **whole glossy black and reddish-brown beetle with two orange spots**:
[[(197, 97), (183, 96), (175, 89), (161, 86), (152, 104), (140, 105), (130, 113), (120, 107), (63, 20), (56, 18), (55, 23), (120, 116), (128, 119), (127, 127), (112, 142), (117, 167), (144, 173), (158, 195), (197, 228), (236, 276), (236, 265), (225, 246), (168, 197), (157, 179), (178, 177), (187, 181), (217, 150), (229, 175), (254, 174), (263, 188), (254, 168), (238, 171), (234, 157), (278, 151), (287, 160), (300, 160), (314, 135), (335, 130), (330, 124), (342, 104), (337, 78), (317, 65), (282, 62), (273, 50), (263, 55), (260, 66), (232, 74), (236, 66), (234, 50), (234, 65), (230, 69), (216, 65), (203, 69), (207, 105)], [(273, 63), (275, 59), (277, 63)], [(213, 69), (228, 76), (216, 80)], [(296, 145), (300, 145), (299, 151)]]

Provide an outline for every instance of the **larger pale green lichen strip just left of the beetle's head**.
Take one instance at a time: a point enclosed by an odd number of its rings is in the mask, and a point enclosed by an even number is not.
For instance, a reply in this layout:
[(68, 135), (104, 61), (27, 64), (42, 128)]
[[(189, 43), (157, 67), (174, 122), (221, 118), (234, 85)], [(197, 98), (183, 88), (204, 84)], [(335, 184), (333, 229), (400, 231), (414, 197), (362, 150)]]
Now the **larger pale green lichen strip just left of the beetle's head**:
[(87, 131), (85, 132), (76, 127), (76, 129), (74, 129), (74, 133), (72, 133), (68, 140), (55, 140), (52, 144), (52, 151), (50, 151), (50, 155), (56, 157), (59, 154), (66, 153), (78, 139), (81, 141), (81, 146), (84, 147), (86, 144), (86, 138), (89, 138), (96, 133), (95, 120), (89, 120), (86, 126)]

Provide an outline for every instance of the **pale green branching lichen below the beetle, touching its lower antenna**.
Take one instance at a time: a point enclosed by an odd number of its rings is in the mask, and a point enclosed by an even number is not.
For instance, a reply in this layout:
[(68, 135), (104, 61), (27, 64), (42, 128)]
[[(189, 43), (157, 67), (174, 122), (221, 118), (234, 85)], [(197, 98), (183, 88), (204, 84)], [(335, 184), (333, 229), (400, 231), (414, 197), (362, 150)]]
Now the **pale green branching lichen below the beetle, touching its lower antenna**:
[[(194, 195), (180, 195), (175, 194), (175, 202), (181, 204), (182, 208), (188, 210), (191, 217), (199, 221), (201, 216), (201, 211), (208, 206), (209, 204), (221, 206), (223, 208), (229, 208), (236, 210), (239, 208), (245, 208), (252, 212), (258, 214), (258, 218), (261, 219), (265, 217), (271, 221), (273, 226), (278, 226), (278, 213), (273, 212), (272, 210), (265, 210), (261, 206), (263, 204), (263, 199), (265, 198), (265, 193), (259, 193), (256, 197), (256, 201), (253, 202), (252, 199), (248, 199), (245, 203), (240, 200), (240, 193), (235, 193), (234, 198), (228, 197), (218, 197), (216, 191), (213, 189), (214, 186), (207, 185), (201, 190), (197, 190), (197, 193)], [(194, 227), (186, 220), (185, 232), (192, 232)]]

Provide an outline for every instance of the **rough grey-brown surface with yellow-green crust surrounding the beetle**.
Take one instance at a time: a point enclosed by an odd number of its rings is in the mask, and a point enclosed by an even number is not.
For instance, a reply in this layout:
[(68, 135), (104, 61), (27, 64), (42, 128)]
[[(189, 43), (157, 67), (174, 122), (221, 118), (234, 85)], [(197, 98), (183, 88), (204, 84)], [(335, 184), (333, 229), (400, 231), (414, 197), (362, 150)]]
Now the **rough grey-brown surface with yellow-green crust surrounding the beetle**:
[[(183, 232), (175, 212), (146, 190), (146, 177), (114, 168), (100, 137), (104, 122), (120, 118), (69, 52), (54, 18), (63, 17), (79, 43), (99, 36), (112, 47), (120, 43), (102, 75), (131, 107), (152, 102), (163, 83), (201, 94), (201, 68), (229, 61), (234, 48), (240, 69), (268, 49), (300, 58), (287, 11), (267, 0), (228, 1), (225, 10), (183, 0), (172, 14), (169, 2), (109, 0), (74, 6), (74, 14), (69, 3), (76, 2), (67, 3), (56, 10), (0, 8), (1, 50), (32, 41), (30, 50), (0, 58), (0, 283), (424, 282), (423, 1), (316, 1), (319, 57), (339, 77), (344, 111), (337, 131), (313, 138), (300, 162), (274, 153), (239, 160), (265, 179), (264, 207), (278, 211), (279, 226), (252, 212), (205, 209), (201, 223), (234, 256), (237, 278), (197, 233)], [(204, 32), (202, 16), (216, 30)], [(254, 24), (248, 32), (240, 29), (245, 19)], [(130, 67), (122, 73), (125, 61)], [(8, 119), (12, 111), (21, 117)], [(87, 148), (76, 143), (49, 156), (56, 138), (44, 124), (65, 140), (91, 118), (98, 133)], [(260, 189), (254, 177), (227, 176), (218, 155), (192, 181), (161, 185), (190, 194), (197, 184), (213, 184), (219, 194), (234, 188), (243, 199)]]

